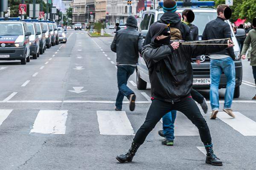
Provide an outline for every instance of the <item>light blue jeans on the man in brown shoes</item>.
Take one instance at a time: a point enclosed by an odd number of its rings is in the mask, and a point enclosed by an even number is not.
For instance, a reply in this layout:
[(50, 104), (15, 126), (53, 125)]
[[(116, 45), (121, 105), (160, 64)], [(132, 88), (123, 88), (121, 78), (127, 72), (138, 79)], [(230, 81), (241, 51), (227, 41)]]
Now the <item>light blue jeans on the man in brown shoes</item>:
[(224, 74), (227, 77), (224, 109), (231, 108), (235, 85), (236, 85), (235, 63), (231, 57), (227, 57), (224, 59), (211, 59), (210, 61), (210, 77), (211, 77), (210, 100), (211, 100), (212, 111), (218, 110), (219, 108), (218, 90), (219, 90), (219, 82), (220, 82), (222, 72), (224, 72)]

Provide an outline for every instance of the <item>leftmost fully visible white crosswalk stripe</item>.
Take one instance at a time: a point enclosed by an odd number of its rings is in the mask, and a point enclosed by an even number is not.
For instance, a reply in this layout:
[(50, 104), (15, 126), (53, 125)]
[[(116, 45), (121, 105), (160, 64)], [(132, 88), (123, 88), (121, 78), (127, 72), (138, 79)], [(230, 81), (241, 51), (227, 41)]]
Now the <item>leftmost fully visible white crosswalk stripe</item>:
[(58, 134), (66, 133), (68, 111), (40, 110), (30, 133)]

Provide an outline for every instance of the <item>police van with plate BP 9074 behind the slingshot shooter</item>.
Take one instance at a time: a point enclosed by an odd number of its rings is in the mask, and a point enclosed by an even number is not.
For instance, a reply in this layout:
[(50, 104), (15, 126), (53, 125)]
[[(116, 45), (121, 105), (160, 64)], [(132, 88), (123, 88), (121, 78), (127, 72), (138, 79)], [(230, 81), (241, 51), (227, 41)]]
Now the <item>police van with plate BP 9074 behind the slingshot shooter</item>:
[[(187, 1), (187, 0), (186, 0)], [(184, 4), (186, 3), (186, 7)], [(190, 4), (191, 6), (187, 7)], [(159, 4), (160, 6), (163, 5), (163, 3)], [(182, 11), (186, 8), (192, 9), (192, 11), (195, 14), (195, 20), (192, 22), (195, 26), (198, 26), (198, 35), (199, 40), (201, 40), (204, 28), (207, 23), (211, 20), (215, 20), (217, 17), (217, 10), (213, 8), (215, 5), (214, 1), (193, 1), (193, 2), (177, 2), (177, 11), (180, 16), (182, 15)], [(212, 7), (212, 8), (207, 8)], [(140, 23), (140, 32), (143, 35), (143, 37), (146, 36), (149, 27), (152, 23), (160, 20), (162, 15), (164, 14), (162, 8), (159, 8), (157, 10), (148, 10), (144, 11), (142, 14), (142, 22)], [(229, 20), (226, 20), (230, 25), (231, 30), (231, 38), (234, 42), (234, 52), (236, 55), (236, 61), (235, 61), (235, 68), (236, 68), (236, 88), (234, 97), (238, 98), (240, 91), (239, 86), (242, 82), (242, 63), (240, 59), (240, 48), (238, 45), (238, 42), (236, 40), (235, 34), (233, 32), (232, 26), (230, 24)], [(192, 59), (195, 61), (195, 58)], [(210, 63), (209, 63), (209, 57), (207, 54), (201, 55), (201, 64), (198, 65), (196, 62), (192, 63), (193, 67), (193, 88), (194, 89), (200, 89), (200, 90), (206, 90), (210, 88), (211, 79), (210, 79)], [(149, 76), (148, 76), (148, 68), (145, 64), (145, 61), (142, 57), (139, 57), (138, 66), (137, 66), (137, 88), (139, 90), (145, 90), (147, 83), (150, 83)], [(219, 88), (226, 88), (227, 80), (222, 73)]]

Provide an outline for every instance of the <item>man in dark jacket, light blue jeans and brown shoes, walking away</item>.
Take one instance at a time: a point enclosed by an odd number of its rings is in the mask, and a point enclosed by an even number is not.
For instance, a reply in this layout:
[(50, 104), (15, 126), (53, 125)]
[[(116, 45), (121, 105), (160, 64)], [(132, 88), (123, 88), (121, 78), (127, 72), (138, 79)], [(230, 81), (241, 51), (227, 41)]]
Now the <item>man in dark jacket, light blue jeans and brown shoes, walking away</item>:
[[(217, 6), (218, 17), (210, 21), (204, 28), (202, 40), (231, 38), (231, 30), (228, 20), (231, 17), (231, 9), (227, 5)], [(224, 49), (217, 53), (209, 53), (210, 60), (210, 101), (212, 107), (211, 119), (216, 119), (219, 109), (219, 83), (222, 72), (227, 77), (225, 103), (223, 111), (231, 117), (235, 115), (231, 109), (233, 101), (234, 90), (236, 85), (236, 71), (235, 71), (235, 54), (233, 48)]]

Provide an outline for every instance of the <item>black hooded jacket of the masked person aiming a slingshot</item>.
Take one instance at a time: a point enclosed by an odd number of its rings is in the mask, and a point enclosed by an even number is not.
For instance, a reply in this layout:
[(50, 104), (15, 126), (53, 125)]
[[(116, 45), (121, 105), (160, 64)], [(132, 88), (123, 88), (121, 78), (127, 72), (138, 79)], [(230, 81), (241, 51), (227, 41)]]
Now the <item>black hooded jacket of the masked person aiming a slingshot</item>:
[[(154, 36), (151, 43), (143, 47), (142, 54), (148, 67), (151, 96), (164, 102), (175, 103), (190, 96), (193, 79), (191, 58), (222, 51), (227, 45), (180, 45), (173, 50), (171, 45), (154, 42), (165, 26), (160, 23), (151, 25), (151, 33)], [(198, 43), (227, 44), (227, 40)]]

